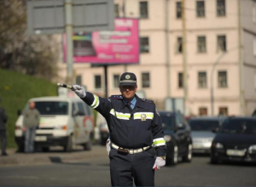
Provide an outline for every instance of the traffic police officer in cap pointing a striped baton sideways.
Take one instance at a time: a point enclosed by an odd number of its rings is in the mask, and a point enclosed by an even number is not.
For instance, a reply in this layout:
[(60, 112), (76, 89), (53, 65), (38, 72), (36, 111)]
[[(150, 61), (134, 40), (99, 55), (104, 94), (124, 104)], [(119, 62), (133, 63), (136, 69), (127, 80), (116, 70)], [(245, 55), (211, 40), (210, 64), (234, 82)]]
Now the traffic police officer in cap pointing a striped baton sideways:
[(79, 85), (73, 87), (77, 88), (75, 93), (108, 122), (112, 185), (132, 186), (134, 180), (137, 186), (154, 186), (154, 170), (166, 164), (166, 141), (154, 102), (140, 99), (136, 94), (135, 74), (123, 73), (119, 82), (121, 95), (108, 99), (85, 93)]

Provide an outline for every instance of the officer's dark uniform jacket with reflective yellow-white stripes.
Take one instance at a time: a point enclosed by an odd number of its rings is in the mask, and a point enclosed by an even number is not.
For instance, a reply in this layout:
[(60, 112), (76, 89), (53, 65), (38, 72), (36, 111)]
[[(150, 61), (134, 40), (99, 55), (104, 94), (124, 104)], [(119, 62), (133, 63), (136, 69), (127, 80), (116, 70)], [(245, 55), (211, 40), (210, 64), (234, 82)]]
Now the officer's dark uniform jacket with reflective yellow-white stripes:
[(163, 139), (162, 122), (154, 102), (140, 99), (133, 110), (121, 95), (108, 99), (86, 92), (82, 98), (87, 105), (100, 112), (108, 122), (113, 144), (125, 149), (140, 149), (154, 146), (157, 156), (166, 155), (166, 141)]

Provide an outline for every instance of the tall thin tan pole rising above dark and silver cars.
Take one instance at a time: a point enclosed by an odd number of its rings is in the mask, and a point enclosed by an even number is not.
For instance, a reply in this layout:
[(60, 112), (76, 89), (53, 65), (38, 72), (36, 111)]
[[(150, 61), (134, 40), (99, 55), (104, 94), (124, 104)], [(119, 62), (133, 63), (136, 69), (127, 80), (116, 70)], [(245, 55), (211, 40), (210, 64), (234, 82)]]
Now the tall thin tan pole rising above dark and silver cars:
[(182, 21), (183, 21), (183, 86), (184, 86), (184, 114), (189, 115), (188, 104), (188, 62), (187, 62), (187, 31), (186, 31), (186, 14), (185, 0), (182, 0)]

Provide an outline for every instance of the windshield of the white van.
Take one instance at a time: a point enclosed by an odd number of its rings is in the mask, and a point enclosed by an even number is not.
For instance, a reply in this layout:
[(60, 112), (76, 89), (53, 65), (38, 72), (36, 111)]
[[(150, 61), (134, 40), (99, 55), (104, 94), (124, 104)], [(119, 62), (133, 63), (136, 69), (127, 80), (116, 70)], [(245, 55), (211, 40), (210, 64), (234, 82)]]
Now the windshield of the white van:
[(67, 115), (68, 103), (62, 101), (37, 101), (36, 108), (40, 115)]

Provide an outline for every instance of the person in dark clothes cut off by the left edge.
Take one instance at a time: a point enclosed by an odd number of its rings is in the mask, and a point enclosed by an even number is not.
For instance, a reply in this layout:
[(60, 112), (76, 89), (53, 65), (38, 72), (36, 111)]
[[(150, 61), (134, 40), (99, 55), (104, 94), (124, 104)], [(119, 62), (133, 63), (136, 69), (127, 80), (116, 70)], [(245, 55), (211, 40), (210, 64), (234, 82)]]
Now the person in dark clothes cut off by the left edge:
[[(0, 105), (1, 105), (2, 99), (0, 98)], [(2, 156), (8, 156), (6, 153), (6, 127), (5, 124), (7, 122), (7, 116), (4, 112), (4, 109), (0, 107), (0, 139), (2, 143)]]

